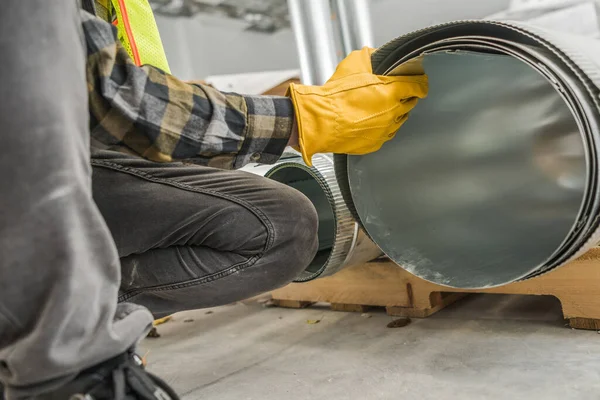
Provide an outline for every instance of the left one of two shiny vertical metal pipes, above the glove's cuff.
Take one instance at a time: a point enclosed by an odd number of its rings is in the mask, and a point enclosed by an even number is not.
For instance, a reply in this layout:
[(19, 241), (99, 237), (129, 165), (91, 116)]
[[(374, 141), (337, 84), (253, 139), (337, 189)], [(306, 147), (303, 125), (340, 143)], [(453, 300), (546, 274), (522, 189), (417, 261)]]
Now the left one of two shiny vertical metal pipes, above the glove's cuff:
[(288, 0), (302, 83), (322, 85), (337, 65), (328, 0)]

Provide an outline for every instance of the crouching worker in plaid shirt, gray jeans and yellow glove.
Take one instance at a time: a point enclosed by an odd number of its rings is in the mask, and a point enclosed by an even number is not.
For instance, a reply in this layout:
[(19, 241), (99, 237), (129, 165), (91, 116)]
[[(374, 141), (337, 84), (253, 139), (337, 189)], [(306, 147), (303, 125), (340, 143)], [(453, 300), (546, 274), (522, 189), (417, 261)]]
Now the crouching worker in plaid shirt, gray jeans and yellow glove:
[(376, 151), (427, 81), (374, 75), (364, 49), (290, 97), (221, 93), (136, 65), (88, 11), (0, 9), (0, 382), (11, 400), (176, 399), (133, 352), (153, 317), (284, 285), (317, 247), (303, 195), (232, 170), (287, 145)]

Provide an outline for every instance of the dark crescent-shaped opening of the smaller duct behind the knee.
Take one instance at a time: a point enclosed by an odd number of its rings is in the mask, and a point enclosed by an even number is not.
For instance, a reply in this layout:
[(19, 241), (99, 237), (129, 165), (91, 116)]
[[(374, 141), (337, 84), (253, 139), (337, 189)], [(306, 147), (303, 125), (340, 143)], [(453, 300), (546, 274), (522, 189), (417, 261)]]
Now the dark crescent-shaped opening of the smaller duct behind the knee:
[(326, 269), (336, 236), (336, 219), (322, 178), (300, 163), (285, 163), (267, 172), (265, 177), (300, 191), (313, 203), (319, 217), (319, 249), (300, 280), (312, 279)]

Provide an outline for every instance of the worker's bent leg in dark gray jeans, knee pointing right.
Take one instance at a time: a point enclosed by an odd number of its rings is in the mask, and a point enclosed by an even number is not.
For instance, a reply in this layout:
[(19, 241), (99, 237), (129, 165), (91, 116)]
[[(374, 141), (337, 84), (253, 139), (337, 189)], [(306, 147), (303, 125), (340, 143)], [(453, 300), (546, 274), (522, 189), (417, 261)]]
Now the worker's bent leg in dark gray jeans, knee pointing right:
[(94, 199), (121, 256), (119, 300), (156, 317), (283, 286), (316, 253), (316, 211), (288, 186), (110, 152), (93, 166)]

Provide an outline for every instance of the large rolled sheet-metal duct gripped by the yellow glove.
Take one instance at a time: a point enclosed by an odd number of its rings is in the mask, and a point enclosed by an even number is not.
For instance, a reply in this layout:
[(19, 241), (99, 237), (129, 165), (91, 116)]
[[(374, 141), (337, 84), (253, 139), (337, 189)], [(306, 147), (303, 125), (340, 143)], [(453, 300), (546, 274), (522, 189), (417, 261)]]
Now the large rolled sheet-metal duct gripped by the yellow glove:
[(355, 218), (398, 265), (485, 288), (598, 243), (600, 44), (520, 23), (460, 21), (401, 36), (374, 72), (430, 91), (382, 150), (336, 155)]

